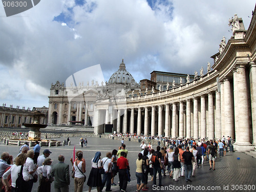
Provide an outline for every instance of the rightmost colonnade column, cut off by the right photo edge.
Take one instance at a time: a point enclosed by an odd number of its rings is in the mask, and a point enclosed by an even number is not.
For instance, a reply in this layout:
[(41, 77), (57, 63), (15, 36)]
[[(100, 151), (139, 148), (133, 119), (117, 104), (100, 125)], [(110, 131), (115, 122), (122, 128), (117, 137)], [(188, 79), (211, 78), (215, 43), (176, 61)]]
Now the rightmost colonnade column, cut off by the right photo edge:
[(251, 119), (253, 131), (253, 144), (256, 145), (256, 63), (250, 62), (250, 93), (251, 93)]

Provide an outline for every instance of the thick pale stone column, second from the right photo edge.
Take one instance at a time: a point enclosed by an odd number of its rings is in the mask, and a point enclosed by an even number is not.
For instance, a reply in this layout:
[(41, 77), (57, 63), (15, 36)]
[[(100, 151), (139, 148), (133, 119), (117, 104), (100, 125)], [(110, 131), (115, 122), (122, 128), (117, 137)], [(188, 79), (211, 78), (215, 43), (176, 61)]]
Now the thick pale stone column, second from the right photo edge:
[[(245, 66), (239, 65), (236, 70), (236, 89), (238, 94), (234, 94), (237, 100), (234, 110), (235, 116), (239, 118), (236, 125), (236, 144), (248, 146), (250, 143), (250, 121), (249, 121), (249, 104), (248, 91), (246, 84)], [(237, 115), (236, 115), (237, 114)], [(232, 136), (231, 136), (232, 138)], [(234, 137), (233, 137), (234, 138)]]

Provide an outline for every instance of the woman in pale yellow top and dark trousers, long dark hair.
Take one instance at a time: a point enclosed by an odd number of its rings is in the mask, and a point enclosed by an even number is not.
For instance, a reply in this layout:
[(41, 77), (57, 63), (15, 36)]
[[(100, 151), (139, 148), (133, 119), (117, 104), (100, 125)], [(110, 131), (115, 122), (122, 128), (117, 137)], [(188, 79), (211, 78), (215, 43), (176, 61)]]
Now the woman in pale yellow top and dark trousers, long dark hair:
[[(145, 185), (145, 175), (142, 173), (142, 164), (144, 163), (142, 159), (142, 153), (139, 153), (138, 159), (136, 160), (136, 178), (137, 178), (137, 190), (136, 192), (140, 192), (140, 189)], [(147, 189), (145, 189), (147, 190)]]

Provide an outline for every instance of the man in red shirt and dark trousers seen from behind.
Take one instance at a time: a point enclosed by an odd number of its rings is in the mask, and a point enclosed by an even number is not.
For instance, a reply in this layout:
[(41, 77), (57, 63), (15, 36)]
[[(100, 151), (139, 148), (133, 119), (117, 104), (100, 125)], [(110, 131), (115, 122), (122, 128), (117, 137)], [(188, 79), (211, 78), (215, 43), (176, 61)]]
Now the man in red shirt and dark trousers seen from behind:
[(121, 152), (121, 157), (117, 159), (118, 176), (119, 176), (119, 187), (120, 191), (125, 192), (128, 182), (127, 177), (127, 166), (129, 166), (128, 160), (124, 157), (125, 152)]

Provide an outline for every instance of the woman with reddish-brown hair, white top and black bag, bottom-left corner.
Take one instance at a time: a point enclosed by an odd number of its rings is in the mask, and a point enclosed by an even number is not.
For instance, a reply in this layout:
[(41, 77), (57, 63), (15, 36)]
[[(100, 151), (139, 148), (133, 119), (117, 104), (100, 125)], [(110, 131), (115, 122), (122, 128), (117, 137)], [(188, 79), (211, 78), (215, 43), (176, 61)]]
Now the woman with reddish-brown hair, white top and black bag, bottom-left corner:
[[(16, 158), (15, 164), (11, 166), (7, 172), (4, 173), (2, 181), (5, 185), (5, 190), (8, 191), (11, 188), (11, 191), (25, 191), (24, 180), (22, 175), (23, 165), (26, 162), (27, 155), (22, 153)], [(10, 185), (7, 177), (11, 174), (12, 184)]]

